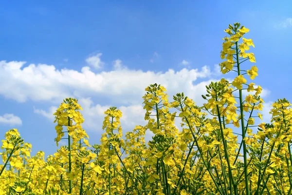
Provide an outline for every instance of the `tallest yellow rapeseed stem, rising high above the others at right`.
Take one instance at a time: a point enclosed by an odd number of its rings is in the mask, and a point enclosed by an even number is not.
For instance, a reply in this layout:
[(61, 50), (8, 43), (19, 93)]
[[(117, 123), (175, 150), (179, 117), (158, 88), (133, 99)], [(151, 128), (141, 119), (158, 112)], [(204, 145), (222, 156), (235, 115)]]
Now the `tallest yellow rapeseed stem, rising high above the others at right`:
[[(254, 79), (257, 76), (257, 68), (256, 66), (253, 66), (251, 70), (245, 71), (244, 74), (241, 74), (240, 70), (240, 64), (243, 63), (246, 60), (250, 60), (250, 62), (256, 62), (255, 56), (253, 53), (246, 53), (245, 51), (249, 50), (249, 46), (254, 46), (252, 39), (245, 39), (242, 38), (243, 35), (247, 32), (249, 32), (249, 29), (245, 28), (244, 26), (240, 26), (239, 23), (234, 23), (234, 26), (229, 25), (229, 28), (225, 30), (225, 32), (230, 36), (225, 37), (225, 42), (223, 43), (223, 50), (221, 51), (221, 58), (226, 59), (226, 61), (220, 63), (221, 66), (221, 72), (223, 74), (235, 71), (237, 72), (237, 77), (232, 82), (232, 85), (237, 88), (239, 91), (239, 109), (240, 109), (240, 115), (239, 117), (232, 118), (234, 125), (239, 126), (238, 119), (240, 119), (240, 126), (241, 126), (241, 136), (242, 136), (242, 145), (243, 145), (243, 161), (244, 161), (244, 177), (245, 177), (245, 191), (246, 195), (250, 195), (250, 187), (249, 187), (249, 176), (248, 176), (248, 159), (247, 159), (247, 147), (246, 147), (246, 128), (244, 124), (244, 110), (246, 110), (244, 107), (244, 102), (246, 100), (243, 99), (242, 96), (242, 85), (247, 82), (247, 80), (243, 77), (243, 75), (248, 74), (251, 79)], [(243, 40), (243, 43), (239, 44), (239, 39)], [(234, 47), (235, 46), (235, 47)], [(234, 67), (235, 70), (234, 70)], [(248, 85), (248, 91), (254, 90), (255, 83), (251, 83)], [(256, 90), (256, 96), (260, 93), (261, 88), (258, 86)], [(255, 97), (256, 99), (256, 97)], [(218, 105), (217, 105), (218, 107)], [(254, 109), (254, 107), (253, 107)], [(219, 117), (220, 119), (220, 117)], [(248, 120), (253, 121), (253, 118), (248, 118)], [(240, 150), (240, 148), (239, 148)], [(239, 154), (239, 151), (237, 153), (237, 156)], [(235, 184), (234, 184), (235, 185)]]

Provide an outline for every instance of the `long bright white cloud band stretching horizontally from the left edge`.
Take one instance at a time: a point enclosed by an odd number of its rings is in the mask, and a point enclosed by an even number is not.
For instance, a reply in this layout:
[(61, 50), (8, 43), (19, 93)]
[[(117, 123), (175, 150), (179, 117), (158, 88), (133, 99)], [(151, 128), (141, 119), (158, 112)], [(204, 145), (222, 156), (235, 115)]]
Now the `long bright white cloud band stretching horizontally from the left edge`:
[[(95, 74), (86, 66), (81, 72), (72, 69), (55, 69), (54, 65), (29, 64), (23, 61), (0, 61), (0, 95), (18, 102), (60, 102), (67, 97), (84, 98), (103, 96), (114, 103), (140, 103), (144, 89), (153, 83), (162, 84), (170, 94), (192, 91), (197, 78), (211, 75), (208, 67), (155, 73), (142, 70), (120, 69)], [(13, 89), (13, 90), (11, 90)]]

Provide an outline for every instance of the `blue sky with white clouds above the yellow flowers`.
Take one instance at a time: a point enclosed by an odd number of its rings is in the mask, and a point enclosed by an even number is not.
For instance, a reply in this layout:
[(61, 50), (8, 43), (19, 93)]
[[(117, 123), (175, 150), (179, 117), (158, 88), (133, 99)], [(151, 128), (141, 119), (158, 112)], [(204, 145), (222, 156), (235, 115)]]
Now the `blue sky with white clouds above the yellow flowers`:
[(51, 113), (67, 96), (85, 107), (91, 144), (110, 106), (122, 110), (125, 131), (145, 123), (142, 96), (150, 83), (164, 84), (170, 100), (184, 92), (200, 104), (204, 86), (222, 77), (216, 64), (223, 30), (234, 22), (250, 29), (254, 82), (265, 89), (266, 105), (292, 101), (291, 10), (290, 0), (1, 2), (1, 137), (17, 128), (33, 154), (53, 154)]

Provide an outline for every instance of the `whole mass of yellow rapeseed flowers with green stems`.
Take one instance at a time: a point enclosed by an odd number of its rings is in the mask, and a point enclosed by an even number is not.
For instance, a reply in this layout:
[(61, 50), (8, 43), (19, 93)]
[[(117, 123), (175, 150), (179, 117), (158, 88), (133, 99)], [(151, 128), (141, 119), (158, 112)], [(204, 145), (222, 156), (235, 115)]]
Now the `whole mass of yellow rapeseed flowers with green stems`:
[[(271, 123), (256, 124), (262, 88), (248, 82), (257, 67), (243, 65), (256, 62), (247, 53), (255, 44), (239, 23), (225, 32), (221, 72), (237, 75), (207, 85), (201, 107), (183, 93), (170, 102), (163, 86), (151, 84), (143, 96), (147, 124), (123, 135), (122, 112), (110, 107), (100, 144), (90, 145), (78, 100), (66, 98), (54, 113), (55, 142), (66, 144), (46, 159), (31, 156), (31, 144), (9, 130), (0, 195), (291, 195), (292, 104), (278, 99)], [(148, 143), (147, 131), (154, 134)]]

